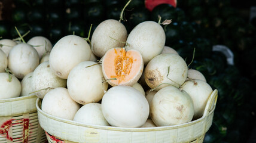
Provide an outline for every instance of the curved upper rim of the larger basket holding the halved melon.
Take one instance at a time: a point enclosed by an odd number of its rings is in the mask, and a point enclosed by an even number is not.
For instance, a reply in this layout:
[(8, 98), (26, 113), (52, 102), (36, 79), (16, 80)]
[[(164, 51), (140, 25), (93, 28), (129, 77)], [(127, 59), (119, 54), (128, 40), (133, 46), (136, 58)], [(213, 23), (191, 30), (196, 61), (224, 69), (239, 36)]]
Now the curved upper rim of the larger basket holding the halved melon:
[[(217, 94), (213, 94), (213, 95), (211, 95), (211, 97), (215, 98), (215, 97), (217, 97)], [(82, 126), (82, 127), (86, 127), (86, 128), (103, 129), (103, 130), (115, 130), (115, 131), (122, 131), (122, 132), (145, 132), (145, 131), (148, 132), (148, 131), (156, 131), (156, 130), (177, 129), (177, 128), (182, 128), (182, 127), (186, 127), (186, 126), (191, 126), (191, 125), (194, 125), (196, 123), (202, 122), (209, 115), (214, 114), (215, 105), (216, 105), (216, 102), (215, 102), (214, 107), (209, 112), (209, 114), (207, 114), (207, 116), (202, 116), (199, 119), (196, 119), (196, 120), (193, 120), (193, 121), (187, 122), (187, 123), (182, 123), (182, 124), (179, 124), (179, 125), (158, 126), (158, 127), (151, 127), (151, 128), (121, 128), (121, 127), (115, 127), (115, 126), (91, 125), (91, 124), (75, 122), (73, 120), (67, 120), (67, 119), (62, 119), (60, 117), (52, 116), (52, 115), (50, 115), (48, 113), (45, 113), (44, 111), (41, 110), (41, 107), (39, 107), (39, 104), (41, 103), (41, 101), (42, 101), (42, 99), (40, 99), (40, 98), (36, 99), (36, 108), (38, 110), (38, 113), (41, 113), (42, 115), (48, 117), (51, 120), (56, 120), (58, 122), (68, 123), (68, 124), (71, 124), (71, 125)], [(209, 102), (210, 101), (208, 101), (208, 104), (210, 104)], [(211, 102), (213, 102), (213, 101), (211, 101)]]

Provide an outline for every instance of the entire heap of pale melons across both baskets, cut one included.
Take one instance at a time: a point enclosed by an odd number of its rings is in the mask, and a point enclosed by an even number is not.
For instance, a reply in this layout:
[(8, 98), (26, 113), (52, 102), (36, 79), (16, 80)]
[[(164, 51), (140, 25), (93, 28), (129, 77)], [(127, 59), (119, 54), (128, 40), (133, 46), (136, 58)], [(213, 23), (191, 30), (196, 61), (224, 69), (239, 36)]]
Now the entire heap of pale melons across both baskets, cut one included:
[(45, 113), (90, 125), (147, 128), (199, 119), (212, 88), (164, 43), (161, 23), (144, 21), (128, 34), (109, 19), (91, 40), (67, 35), (51, 46), (37, 36), (2, 44), (10, 51), (1, 46), (0, 99), (36, 95)]

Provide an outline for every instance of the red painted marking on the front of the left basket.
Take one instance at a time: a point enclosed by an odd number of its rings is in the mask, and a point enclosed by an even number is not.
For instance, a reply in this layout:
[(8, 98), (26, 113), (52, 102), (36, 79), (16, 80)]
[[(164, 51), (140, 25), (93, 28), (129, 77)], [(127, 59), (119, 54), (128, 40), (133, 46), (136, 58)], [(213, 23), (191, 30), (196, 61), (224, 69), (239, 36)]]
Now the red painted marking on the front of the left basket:
[[(5, 136), (10, 141), (13, 141), (13, 138), (9, 135), (9, 129), (13, 125), (23, 125), (23, 142), (28, 142), (28, 137), (29, 137), (29, 119), (20, 119), (20, 120), (14, 120), (10, 119), (4, 122), (1, 125), (0, 128), (0, 134), (2, 136)], [(21, 138), (15, 138), (15, 139), (21, 139)]]

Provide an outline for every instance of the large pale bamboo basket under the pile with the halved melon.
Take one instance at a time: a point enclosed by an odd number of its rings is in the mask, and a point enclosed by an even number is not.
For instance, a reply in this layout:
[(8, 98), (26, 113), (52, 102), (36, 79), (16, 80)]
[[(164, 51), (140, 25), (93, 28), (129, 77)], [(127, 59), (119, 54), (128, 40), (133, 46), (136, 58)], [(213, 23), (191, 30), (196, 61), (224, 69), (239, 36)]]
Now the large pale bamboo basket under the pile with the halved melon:
[(36, 100), (38, 119), (48, 142), (203, 142), (212, 125), (218, 91), (215, 89), (200, 119), (175, 126), (154, 128), (119, 128), (88, 125), (51, 116), (41, 110), (41, 99)]

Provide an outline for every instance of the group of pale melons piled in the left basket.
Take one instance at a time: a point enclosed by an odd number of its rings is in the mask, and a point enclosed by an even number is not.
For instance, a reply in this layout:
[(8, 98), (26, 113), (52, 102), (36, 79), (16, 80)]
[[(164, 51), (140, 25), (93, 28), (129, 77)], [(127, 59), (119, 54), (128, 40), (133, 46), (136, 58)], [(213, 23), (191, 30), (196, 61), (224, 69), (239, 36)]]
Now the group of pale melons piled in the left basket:
[(20, 37), (17, 41), (0, 40), (0, 100), (29, 95), (33, 91), (31, 75), (47, 60), (53, 47), (43, 36), (35, 36), (28, 42)]

